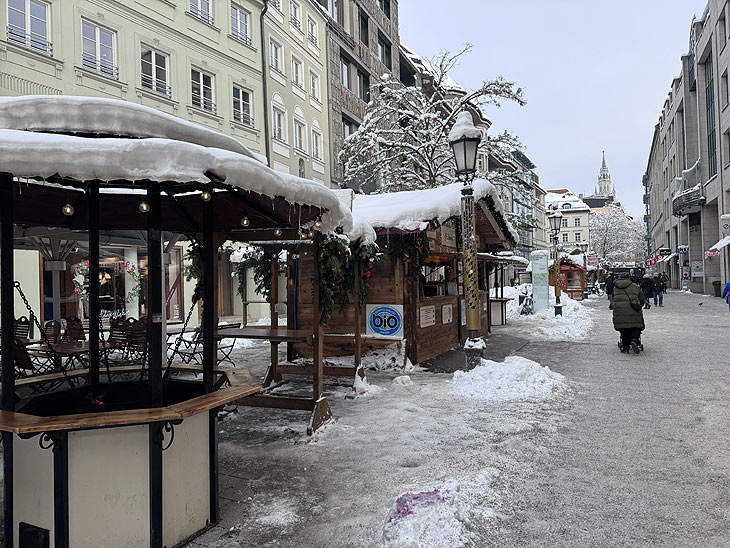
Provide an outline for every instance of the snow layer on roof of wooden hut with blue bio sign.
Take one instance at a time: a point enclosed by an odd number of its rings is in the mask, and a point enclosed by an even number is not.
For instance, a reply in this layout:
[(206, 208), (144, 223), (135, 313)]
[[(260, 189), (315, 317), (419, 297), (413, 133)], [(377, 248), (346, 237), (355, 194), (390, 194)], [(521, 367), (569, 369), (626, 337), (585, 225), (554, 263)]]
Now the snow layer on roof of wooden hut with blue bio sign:
[[(474, 198), (481, 200), (490, 197), (494, 202), (494, 213), (500, 217), (515, 242), (519, 235), (512, 225), (504, 219), (504, 206), (492, 183), (477, 179), (472, 183)], [(353, 214), (362, 215), (375, 229), (420, 232), (428, 228), (430, 221), (444, 223), (461, 214), (461, 183), (428, 188), (391, 192), (387, 194), (357, 194)]]

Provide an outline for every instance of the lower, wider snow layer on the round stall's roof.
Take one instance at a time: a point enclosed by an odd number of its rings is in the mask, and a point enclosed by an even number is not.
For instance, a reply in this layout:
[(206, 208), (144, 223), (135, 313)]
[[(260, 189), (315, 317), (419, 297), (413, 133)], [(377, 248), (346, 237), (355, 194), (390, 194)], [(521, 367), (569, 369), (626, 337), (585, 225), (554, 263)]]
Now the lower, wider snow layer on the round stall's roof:
[[(44, 109), (49, 104), (45, 97), (27, 97), (26, 99), (26, 102), (19, 104), (24, 105), (24, 111), (31, 118), (33, 118), (31, 105), (34, 102), (39, 104), (40, 112), (45, 112)], [(74, 99), (77, 99), (79, 103), (83, 102), (81, 98)], [(98, 106), (93, 99), (90, 100), (92, 104)], [(1, 103), (4, 106), (7, 104), (7, 101)], [(252, 155), (192, 143), (185, 139), (90, 138), (61, 134), (61, 132), (68, 131), (108, 135), (119, 131), (122, 125), (129, 123), (134, 116), (139, 115), (138, 110), (134, 108), (129, 110), (127, 108), (129, 103), (124, 101), (105, 100), (104, 104), (106, 108), (103, 111), (97, 107), (90, 109), (90, 112), (96, 113), (95, 115), (101, 119), (90, 116), (86, 120), (87, 113), (80, 107), (76, 108), (75, 112), (83, 119), (74, 119), (70, 115), (64, 116), (60, 112), (55, 113), (54, 116), (57, 115), (58, 118), (52, 124), (53, 133), (0, 129), (0, 172), (27, 178), (60, 176), (77, 181), (150, 180), (181, 183), (209, 183), (210, 179), (206, 173), (212, 173), (233, 187), (272, 198), (281, 197), (292, 204), (326, 209), (327, 213), (322, 219), (324, 231), (334, 230), (338, 226), (345, 231), (352, 229), (350, 212), (342, 207), (340, 200), (330, 189), (314, 181), (276, 172)], [(118, 110), (121, 113), (117, 112)], [(147, 110), (149, 109), (146, 109), (145, 112)], [(0, 106), (0, 112), (5, 113), (0, 114), (0, 128), (4, 127), (3, 124), (27, 127), (43, 125), (51, 131), (48, 123), (50, 118), (42, 124), (35, 123), (32, 119), (26, 124), (20, 124), (8, 113), (7, 109), (3, 110), (2, 106)], [(133, 117), (126, 117), (125, 113), (130, 112), (133, 113)], [(41, 118), (39, 116), (36, 119)], [(111, 129), (105, 129), (104, 120), (107, 118), (112, 120)], [(139, 121), (142, 127), (147, 127), (141, 119)], [(183, 127), (187, 127), (187, 123), (182, 120), (180, 122), (179, 125), (176, 125), (177, 121), (170, 121), (165, 131), (169, 130), (171, 134), (179, 134)], [(151, 126), (151, 124), (148, 125)], [(92, 128), (95, 128), (94, 131), (90, 131)], [(187, 136), (182, 135), (182, 137), (201, 142), (220, 142), (221, 144), (225, 144), (228, 139), (224, 138), (225, 136), (218, 138), (216, 135), (209, 135), (207, 130), (199, 133), (196, 131), (195, 128), (191, 128), (191, 133)]]

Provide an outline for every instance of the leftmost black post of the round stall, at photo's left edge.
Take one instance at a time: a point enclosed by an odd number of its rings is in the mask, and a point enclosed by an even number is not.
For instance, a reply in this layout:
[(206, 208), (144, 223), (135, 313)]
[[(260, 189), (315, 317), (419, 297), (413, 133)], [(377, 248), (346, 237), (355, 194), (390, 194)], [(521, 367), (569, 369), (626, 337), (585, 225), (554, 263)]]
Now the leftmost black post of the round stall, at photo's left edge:
[[(13, 256), (13, 176), (0, 175), (0, 327), (2, 328), (2, 408), (15, 411), (15, 264)], [(3, 522), (5, 546), (13, 543), (13, 434), (3, 432)]]

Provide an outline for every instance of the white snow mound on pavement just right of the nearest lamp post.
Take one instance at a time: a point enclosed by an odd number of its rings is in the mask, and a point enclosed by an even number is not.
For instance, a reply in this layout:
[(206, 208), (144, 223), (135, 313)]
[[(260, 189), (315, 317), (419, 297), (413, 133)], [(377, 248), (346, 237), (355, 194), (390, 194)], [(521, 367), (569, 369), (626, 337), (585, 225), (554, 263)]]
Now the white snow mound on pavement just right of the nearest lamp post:
[(521, 356), (503, 362), (482, 360), (471, 371), (456, 371), (451, 392), (490, 401), (547, 399), (565, 387), (565, 377)]

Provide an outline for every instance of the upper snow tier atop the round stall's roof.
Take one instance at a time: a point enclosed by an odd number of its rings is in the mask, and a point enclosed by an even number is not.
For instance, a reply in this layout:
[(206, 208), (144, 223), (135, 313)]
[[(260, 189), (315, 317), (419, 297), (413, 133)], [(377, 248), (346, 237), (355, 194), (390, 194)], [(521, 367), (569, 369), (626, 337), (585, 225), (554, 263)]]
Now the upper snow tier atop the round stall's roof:
[(159, 137), (211, 148), (221, 148), (255, 158), (239, 141), (157, 109), (100, 97), (69, 95), (24, 95), (0, 97), (0, 128), (102, 135), (114, 137)]

